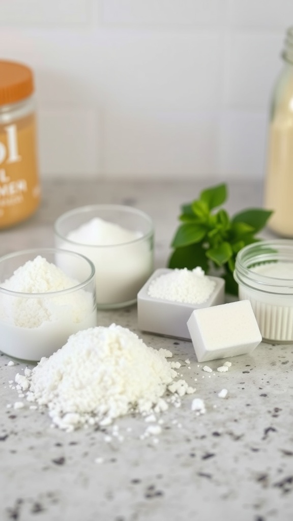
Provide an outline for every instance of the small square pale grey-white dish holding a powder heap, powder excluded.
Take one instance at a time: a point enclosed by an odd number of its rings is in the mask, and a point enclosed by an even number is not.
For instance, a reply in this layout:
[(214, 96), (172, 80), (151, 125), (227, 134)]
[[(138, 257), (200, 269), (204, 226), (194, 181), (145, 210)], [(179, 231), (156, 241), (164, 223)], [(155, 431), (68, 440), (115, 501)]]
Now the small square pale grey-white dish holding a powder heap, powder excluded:
[(138, 293), (138, 327), (167, 337), (191, 340), (187, 321), (194, 309), (223, 304), (225, 300), (225, 281), (220, 277), (210, 277), (215, 281), (215, 288), (209, 299), (201, 304), (186, 304), (149, 295), (149, 287), (154, 279), (173, 271), (170, 268), (156, 269)]

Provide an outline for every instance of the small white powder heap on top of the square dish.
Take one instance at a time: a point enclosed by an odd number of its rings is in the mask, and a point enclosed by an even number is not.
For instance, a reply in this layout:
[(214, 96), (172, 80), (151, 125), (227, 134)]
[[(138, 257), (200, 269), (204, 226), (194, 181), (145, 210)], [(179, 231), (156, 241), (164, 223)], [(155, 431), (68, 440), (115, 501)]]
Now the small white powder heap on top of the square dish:
[(200, 266), (192, 270), (175, 268), (152, 280), (148, 294), (156, 299), (201, 304), (209, 299), (214, 288), (215, 281)]

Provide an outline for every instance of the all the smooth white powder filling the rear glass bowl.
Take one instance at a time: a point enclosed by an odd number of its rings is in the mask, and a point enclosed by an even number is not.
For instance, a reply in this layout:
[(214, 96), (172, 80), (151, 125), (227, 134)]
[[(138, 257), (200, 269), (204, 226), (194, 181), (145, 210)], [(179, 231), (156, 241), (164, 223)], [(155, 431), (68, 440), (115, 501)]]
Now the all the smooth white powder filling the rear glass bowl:
[(141, 231), (94, 218), (70, 231), (62, 247), (91, 259), (96, 273), (96, 299), (100, 306), (136, 300), (151, 274), (153, 252)]

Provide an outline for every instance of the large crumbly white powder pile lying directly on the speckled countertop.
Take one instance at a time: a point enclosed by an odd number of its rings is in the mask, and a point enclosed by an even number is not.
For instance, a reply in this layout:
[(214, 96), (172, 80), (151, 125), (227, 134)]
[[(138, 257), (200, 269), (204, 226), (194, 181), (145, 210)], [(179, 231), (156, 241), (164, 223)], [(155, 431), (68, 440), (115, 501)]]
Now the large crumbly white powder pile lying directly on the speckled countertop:
[(177, 371), (166, 359), (171, 356), (146, 346), (127, 328), (99, 326), (71, 335), (62, 349), (15, 381), (28, 401), (48, 407), (53, 425), (72, 431), (109, 425), (130, 412), (165, 411), (166, 391), (177, 399), (194, 392), (174, 381)]

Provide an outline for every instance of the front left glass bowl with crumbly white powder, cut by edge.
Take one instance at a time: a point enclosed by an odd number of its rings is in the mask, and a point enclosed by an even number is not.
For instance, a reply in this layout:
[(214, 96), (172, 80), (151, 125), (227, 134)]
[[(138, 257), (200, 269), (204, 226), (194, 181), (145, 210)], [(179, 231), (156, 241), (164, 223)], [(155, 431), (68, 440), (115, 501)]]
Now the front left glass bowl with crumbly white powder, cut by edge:
[(94, 326), (95, 270), (88, 258), (56, 248), (0, 258), (3, 353), (40, 361), (62, 348), (71, 334)]

